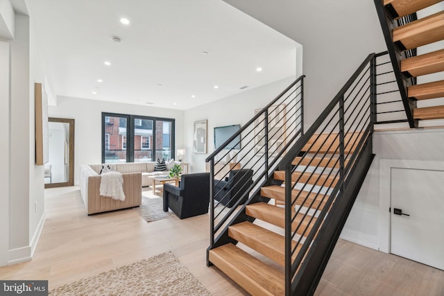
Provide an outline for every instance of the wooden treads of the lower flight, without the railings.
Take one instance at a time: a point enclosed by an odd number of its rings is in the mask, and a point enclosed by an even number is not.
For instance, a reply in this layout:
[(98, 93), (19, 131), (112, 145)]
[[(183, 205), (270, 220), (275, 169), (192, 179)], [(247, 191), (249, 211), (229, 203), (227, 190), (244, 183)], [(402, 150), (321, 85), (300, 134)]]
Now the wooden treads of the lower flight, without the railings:
[[(346, 138), (352, 139), (352, 134)], [(355, 137), (355, 139), (359, 141), (359, 137)], [(352, 145), (352, 141), (348, 143), (350, 144), (345, 153), (349, 155), (354, 152), (352, 149), (354, 145)], [(330, 199), (330, 195), (327, 193), (315, 191), (314, 186), (322, 186), (324, 191), (331, 192), (339, 181), (337, 169), (340, 167), (340, 155), (335, 153), (332, 147), (339, 147), (339, 134), (314, 134), (303, 148), (303, 153), (307, 155), (332, 154), (328, 157), (308, 156), (293, 159), (292, 166), (309, 168), (306, 171), (296, 170), (291, 174), (291, 182), (303, 187), (291, 190), (291, 199), (296, 206), (291, 207), (291, 216), (294, 217), (291, 222), (291, 232), (295, 232), (300, 241), (291, 241), (291, 247), (296, 250), (293, 259), (296, 259), (296, 254), (302, 247), (302, 240), (305, 240), (315, 226), (317, 214), (324, 209), (327, 200)], [(313, 173), (313, 171), (321, 171), (322, 173)], [(285, 171), (275, 171), (273, 180), (275, 183), (283, 183)], [(285, 186), (262, 186), (260, 195), (263, 198), (278, 200), (285, 204)], [(237, 247), (232, 243), (210, 250), (209, 259), (252, 295), (285, 295), (285, 238), (283, 235), (285, 209), (266, 202), (257, 202), (246, 206), (246, 216), (255, 219), (255, 223), (247, 220), (230, 225), (228, 236), (262, 254), (273, 263), (266, 264), (249, 254), (246, 251), (248, 249), (244, 250), (245, 248)], [(260, 223), (259, 220), (266, 223)], [(268, 230), (267, 223), (279, 227), (278, 231), (276, 229), (274, 231)], [(259, 226), (261, 224), (264, 227)], [(316, 234), (314, 237), (316, 238)]]

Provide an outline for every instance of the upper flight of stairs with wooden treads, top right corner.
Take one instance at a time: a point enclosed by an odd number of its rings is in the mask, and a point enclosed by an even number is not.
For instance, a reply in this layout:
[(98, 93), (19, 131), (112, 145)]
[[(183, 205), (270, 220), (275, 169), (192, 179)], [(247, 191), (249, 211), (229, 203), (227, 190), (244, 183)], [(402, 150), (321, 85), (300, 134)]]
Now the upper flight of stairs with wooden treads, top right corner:
[[(428, 44), (444, 40), (444, 11), (417, 19), (417, 12), (424, 8), (434, 6), (435, 10), (443, 10), (440, 2), (375, 0), (411, 128), (430, 119), (444, 119), (443, 101), (438, 100), (444, 97), (444, 76), (423, 77), (444, 73), (444, 45), (437, 43), (427, 48)], [(436, 6), (437, 3), (440, 4)], [(416, 55), (417, 49), (422, 51), (420, 55)]]

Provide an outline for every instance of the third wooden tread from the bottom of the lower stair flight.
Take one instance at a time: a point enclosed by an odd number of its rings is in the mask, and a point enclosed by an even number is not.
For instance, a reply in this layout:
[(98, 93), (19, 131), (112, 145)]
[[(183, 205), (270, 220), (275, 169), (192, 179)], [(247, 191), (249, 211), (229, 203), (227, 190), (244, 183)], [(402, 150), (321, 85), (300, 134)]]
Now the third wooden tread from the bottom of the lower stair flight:
[[(292, 209), (291, 213), (293, 216), (296, 214), (294, 209)], [(263, 220), (281, 228), (285, 228), (285, 209), (283, 207), (275, 207), (265, 202), (257, 202), (255, 204), (248, 204), (246, 207), (246, 214), (250, 217)], [(302, 224), (297, 229), (296, 233), (307, 236), (316, 222), (316, 218), (309, 215), (305, 216), (304, 218), (304, 214), (297, 214), (296, 218), (293, 220), (293, 223), (291, 223), (293, 231), (298, 227), (301, 221)]]

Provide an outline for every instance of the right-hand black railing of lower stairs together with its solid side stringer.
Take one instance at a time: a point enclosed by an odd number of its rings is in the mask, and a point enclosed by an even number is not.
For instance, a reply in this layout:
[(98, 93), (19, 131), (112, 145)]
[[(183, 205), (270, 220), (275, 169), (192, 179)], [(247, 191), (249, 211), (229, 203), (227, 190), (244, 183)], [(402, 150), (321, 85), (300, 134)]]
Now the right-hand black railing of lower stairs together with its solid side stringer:
[(314, 292), (373, 159), (374, 65), (373, 53), (278, 165), (285, 171), (287, 295)]

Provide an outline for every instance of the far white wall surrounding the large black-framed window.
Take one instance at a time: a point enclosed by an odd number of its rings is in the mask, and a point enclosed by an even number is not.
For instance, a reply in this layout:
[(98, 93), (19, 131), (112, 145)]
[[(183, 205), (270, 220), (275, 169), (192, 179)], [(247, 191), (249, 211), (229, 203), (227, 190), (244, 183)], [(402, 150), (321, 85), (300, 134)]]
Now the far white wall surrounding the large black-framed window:
[(184, 146), (183, 111), (58, 96), (57, 106), (49, 106), (49, 116), (76, 120), (74, 184), (80, 165), (101, 163), (102, 112), (176, 119), (176, 148)]

